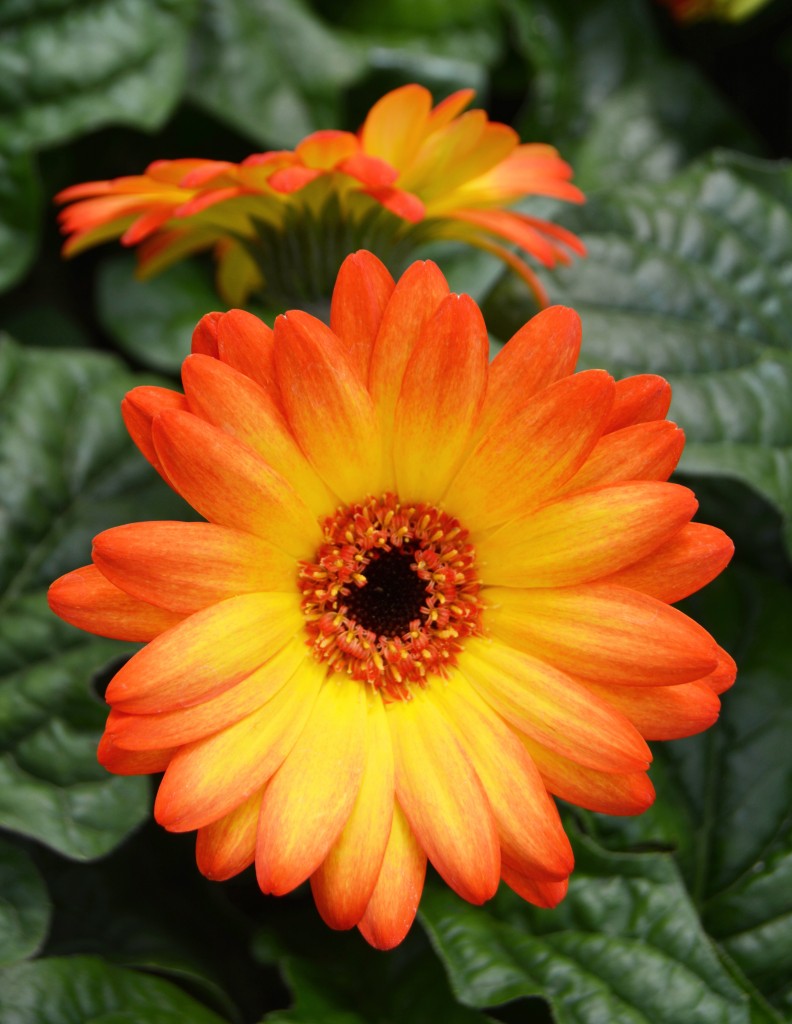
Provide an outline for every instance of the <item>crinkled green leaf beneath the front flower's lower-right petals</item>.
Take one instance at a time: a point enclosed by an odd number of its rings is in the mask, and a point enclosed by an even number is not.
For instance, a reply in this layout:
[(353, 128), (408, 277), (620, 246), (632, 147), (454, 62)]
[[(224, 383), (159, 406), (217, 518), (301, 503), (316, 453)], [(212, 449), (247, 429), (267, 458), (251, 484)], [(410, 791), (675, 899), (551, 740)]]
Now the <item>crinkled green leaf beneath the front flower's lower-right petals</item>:
[(502, 887), (487, 908), (446, 889), (422, 920), (465, 1002), (542, 995), (557, 1024), (748, 1024), (672, 858), (576, 843), (567, 899), (538, 910)]

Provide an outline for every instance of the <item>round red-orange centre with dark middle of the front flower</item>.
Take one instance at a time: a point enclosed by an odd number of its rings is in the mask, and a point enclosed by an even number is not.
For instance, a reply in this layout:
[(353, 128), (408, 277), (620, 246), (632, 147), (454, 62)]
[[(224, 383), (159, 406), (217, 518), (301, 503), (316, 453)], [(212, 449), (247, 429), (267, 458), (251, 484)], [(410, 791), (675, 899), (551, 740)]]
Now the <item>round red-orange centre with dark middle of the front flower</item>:
[(393, 495), (339, 508), (300, 565), (308, 643), (336, 672), (410, 698), (481, 632), (475, 551), (459, 521)]

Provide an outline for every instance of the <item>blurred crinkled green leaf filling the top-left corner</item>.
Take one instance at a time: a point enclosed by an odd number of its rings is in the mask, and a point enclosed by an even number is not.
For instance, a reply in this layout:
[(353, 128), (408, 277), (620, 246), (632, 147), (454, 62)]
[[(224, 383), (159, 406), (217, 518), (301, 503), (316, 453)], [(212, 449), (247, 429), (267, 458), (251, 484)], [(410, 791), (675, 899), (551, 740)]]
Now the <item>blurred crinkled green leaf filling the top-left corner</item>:
[(0, 12), (0, 150), (107, 124), (152, 130), (183, 88), (197, 0), (8, 0)]

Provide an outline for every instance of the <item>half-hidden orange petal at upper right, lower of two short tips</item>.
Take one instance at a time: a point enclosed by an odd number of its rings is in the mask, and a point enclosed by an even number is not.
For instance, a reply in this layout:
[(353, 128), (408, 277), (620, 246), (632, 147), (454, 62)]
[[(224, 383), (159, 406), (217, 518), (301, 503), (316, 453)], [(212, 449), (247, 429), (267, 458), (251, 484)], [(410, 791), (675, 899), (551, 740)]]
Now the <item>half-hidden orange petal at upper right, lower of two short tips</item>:
[(605, 434), (562, 487), (566, 494), (626, 480), (667, 480), (684, 447), (675, 423), (655, 420)]

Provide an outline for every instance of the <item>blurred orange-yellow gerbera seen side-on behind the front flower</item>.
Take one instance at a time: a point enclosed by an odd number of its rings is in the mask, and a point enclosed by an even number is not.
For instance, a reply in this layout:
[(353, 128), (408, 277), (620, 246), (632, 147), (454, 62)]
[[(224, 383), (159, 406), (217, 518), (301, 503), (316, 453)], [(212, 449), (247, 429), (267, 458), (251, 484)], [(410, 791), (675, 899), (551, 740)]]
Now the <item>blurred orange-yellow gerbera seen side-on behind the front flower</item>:
[[(484, 111), (463, 113), (472, 97), (464, 89), (432, 108), (427, 89), (407, 85), (375, 103), (358, 134), (318, 131), (294, 151), (254, 154), (241, 164), (157, 161), (142, 175), (67, 188), (57, 197), (71, 204), (60, 213), (70, 236), (64, 251), (120, 236), (123, 245), (139, 246), (148, 275), (212, 248), (220, 294), (243, 303), (263, 288), (287, 293), (289, 279), (304, 278), (307, 267), (316, 275), (318, 254), (320, 262), (325, 253), (332, 257), (320, 273), (332, 284), (357, 245), (380, 253), (391, 247), (399, 261), (419, 242), (449, 239), (500, 257), (546, 305), (536, 273), (507, 246), (547, 267), (585, 250), (570, 231), (513, 204), (527, 196), (573, 203), (583, 196), (552, 146), (520, 144)], [(282, 252), (287, 229), (292, 242)]]

